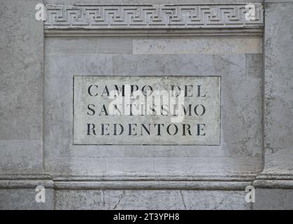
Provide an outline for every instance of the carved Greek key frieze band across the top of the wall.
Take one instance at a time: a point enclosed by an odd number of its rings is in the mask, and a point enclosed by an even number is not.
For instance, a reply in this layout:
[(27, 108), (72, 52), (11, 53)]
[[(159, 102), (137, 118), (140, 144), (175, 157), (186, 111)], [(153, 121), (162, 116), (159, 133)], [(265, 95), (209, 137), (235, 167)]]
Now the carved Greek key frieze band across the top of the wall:
[(245, 19), (245, 5), (47, 5), (45, 29), (262, 28), (262, 4), (255, 3), (255, 20)]

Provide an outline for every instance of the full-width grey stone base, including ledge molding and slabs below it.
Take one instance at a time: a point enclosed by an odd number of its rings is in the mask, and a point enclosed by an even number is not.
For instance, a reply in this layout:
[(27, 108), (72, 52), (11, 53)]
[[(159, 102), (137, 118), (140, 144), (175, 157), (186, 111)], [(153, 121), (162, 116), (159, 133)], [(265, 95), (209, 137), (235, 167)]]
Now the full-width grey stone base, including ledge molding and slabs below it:
[[(40, 185), (45, 203), (35, 200)], [(255, 186), (255, 203), (245, 201), (246, 186)], [(0, 198), (0, 209), (287, 209), (293, 176), (0, 174)]]

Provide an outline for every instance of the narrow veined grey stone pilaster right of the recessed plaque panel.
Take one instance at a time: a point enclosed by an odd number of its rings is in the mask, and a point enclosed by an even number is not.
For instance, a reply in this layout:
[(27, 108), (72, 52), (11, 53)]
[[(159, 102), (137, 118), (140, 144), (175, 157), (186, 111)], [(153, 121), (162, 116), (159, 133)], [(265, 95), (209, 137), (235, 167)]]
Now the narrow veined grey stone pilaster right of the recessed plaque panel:
[[(264, 134), (266, 173), (293, 173), (293, 2), (266, 3)], [(280, 13), (282, 12), (282, 13)]]

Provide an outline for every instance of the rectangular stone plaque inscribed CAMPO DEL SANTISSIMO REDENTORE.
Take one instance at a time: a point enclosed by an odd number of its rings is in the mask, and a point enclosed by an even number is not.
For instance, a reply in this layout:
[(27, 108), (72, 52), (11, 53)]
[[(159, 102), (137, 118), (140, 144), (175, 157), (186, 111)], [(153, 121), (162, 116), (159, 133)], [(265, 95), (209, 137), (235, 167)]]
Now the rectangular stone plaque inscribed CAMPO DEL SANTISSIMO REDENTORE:
[(220, 145), (220, 76), (74, 76), (73, 144)]

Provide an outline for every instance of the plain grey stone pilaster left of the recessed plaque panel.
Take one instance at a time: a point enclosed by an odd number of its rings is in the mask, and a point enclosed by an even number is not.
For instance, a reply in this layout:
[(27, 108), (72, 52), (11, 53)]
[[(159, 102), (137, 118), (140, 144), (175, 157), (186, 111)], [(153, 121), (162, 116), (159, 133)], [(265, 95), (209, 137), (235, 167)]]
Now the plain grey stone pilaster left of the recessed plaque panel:
[(42, 172), (43, 22), (39, 1), (1, 1), (0, 172)]

